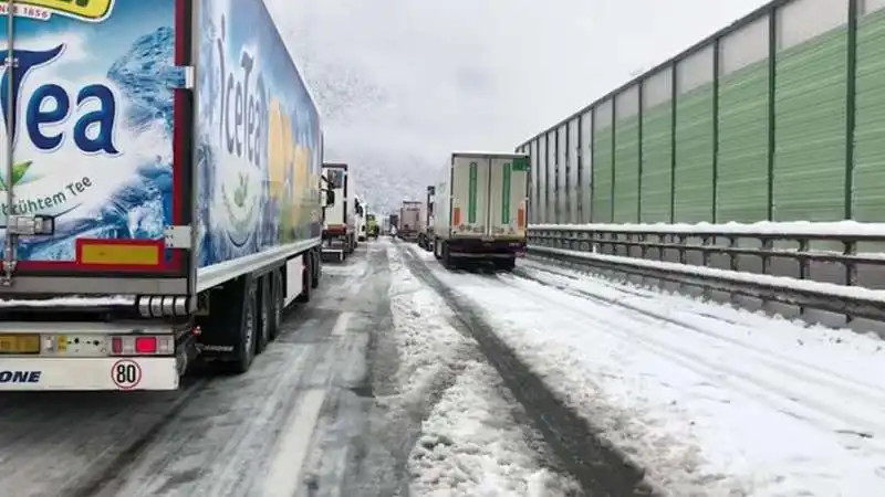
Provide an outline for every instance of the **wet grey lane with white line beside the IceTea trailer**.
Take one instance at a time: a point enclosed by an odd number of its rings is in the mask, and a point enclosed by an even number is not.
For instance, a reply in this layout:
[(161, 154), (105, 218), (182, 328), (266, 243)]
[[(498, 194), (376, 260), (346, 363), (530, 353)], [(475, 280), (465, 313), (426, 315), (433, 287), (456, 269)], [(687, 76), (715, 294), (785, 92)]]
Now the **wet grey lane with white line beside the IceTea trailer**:
[(246, 374), (177, 392), (0, 395), (0, 497), (377, 495), (347, 489), (373, 473), (358, 452), (386, 266), (371, 244), (326, 264)]

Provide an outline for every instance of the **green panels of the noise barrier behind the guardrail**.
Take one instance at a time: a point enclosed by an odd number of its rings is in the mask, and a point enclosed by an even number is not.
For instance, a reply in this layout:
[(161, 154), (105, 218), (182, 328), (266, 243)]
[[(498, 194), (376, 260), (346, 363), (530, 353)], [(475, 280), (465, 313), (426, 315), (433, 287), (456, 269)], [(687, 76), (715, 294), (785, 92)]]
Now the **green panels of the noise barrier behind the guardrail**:
[(596, 127), (592, 145), (593, 222), (885, 222), (885, 9)]

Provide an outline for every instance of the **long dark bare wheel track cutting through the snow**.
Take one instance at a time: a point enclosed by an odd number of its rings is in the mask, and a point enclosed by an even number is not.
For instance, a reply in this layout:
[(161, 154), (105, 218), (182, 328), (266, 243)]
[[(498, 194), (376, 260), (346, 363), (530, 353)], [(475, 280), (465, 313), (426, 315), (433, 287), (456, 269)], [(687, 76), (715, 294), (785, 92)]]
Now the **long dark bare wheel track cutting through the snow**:
[[(650, 496), (644, 472), (597, 436), (598, 432), (555, 394), (543, 380), (519, 360), (516, 352), (481, 318), (480, 309), (439, 281), (430, 268), (408, 250), (406, 264), (434, 288), (456, 311), (459, 325), (477, 342), (489, 363), (532, 419), (534, 427), (554, 451), (564, 467), (594, 497)], [(483, 279), (478, 276), (478, 279)], [(493, 279), (485, 278), (493, 285)], [(499, 284), (500, 285), (500, 284)]]

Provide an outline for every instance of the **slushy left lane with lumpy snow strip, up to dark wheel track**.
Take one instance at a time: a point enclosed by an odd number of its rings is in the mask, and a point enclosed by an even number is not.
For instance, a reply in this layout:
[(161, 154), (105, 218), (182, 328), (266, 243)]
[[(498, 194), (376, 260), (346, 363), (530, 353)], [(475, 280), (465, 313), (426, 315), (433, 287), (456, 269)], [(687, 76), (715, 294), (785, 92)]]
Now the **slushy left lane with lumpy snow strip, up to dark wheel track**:
[(403, 251), (326, 264), (243, 376), (0, 396), (0, 496), (580, 495)]

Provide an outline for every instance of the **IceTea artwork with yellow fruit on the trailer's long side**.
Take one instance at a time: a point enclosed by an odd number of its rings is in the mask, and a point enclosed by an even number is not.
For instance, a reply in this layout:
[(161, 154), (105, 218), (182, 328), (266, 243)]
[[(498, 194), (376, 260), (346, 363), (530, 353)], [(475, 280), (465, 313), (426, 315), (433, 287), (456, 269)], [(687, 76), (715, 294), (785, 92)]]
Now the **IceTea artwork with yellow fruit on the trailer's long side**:
[(199, 9), (200, 266), (320, 234), (320, 120), (261, 0)]

